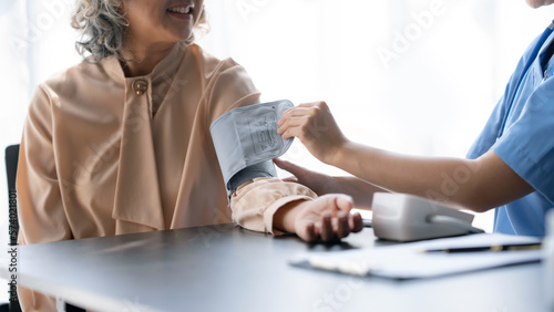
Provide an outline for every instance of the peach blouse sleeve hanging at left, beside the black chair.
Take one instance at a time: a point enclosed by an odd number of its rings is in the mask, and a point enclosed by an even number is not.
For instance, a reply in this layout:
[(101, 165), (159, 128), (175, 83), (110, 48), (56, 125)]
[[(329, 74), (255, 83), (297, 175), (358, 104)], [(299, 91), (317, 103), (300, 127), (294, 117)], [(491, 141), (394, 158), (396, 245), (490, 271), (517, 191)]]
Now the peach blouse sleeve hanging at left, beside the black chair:
[[(23, 128), (17, 176), (19, 245), (71, 238), (60, 183), (55, 173), (52, 138), (52, 102), (45, 86), (37, 90)], [(55, 301), (18, 287), (23, 311), (55, 311)]]

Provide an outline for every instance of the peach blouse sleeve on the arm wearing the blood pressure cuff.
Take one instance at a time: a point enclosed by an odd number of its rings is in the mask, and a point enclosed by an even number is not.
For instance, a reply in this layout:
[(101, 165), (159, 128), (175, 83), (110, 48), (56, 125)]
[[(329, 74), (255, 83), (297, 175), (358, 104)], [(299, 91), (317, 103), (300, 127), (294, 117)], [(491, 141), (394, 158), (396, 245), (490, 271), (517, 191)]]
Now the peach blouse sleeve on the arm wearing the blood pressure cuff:
[[(232, 108), (259, 103), (259, 92), (246, 71), (233, 60), (224, 62), (230, 66), (220, 71), (208, 90), (212, 108), (208, 124)], [(314, 191), (300, 184), (278, 178), (256, 178), (243, 184), (232, 196), (233, 221), (249, 230), (278, 235), (280, 232), (273, 228), (277, 210), (291, 201), (316, 197)]]

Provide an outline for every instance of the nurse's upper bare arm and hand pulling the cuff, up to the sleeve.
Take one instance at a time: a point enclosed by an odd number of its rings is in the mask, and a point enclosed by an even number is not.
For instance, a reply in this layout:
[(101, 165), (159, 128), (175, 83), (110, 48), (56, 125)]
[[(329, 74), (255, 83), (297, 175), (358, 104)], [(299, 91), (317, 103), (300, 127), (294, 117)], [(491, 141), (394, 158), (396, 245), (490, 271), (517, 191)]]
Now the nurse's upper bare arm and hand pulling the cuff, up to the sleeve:
[(324, 102), (302, 104), (279, 121), (284, 138), (296, 136), (317, 158), (367, 183), (485, 211), (533, 188), (494, 152), (478, 159), (413, 157), (347, 139)]

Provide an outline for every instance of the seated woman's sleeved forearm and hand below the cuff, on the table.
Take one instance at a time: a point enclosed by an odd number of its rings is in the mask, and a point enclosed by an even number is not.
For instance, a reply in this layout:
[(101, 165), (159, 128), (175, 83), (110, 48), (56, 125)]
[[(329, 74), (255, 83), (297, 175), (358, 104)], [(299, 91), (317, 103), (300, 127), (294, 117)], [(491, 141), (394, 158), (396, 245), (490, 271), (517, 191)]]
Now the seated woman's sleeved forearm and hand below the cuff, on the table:
[(297, 233), (306, 241), (334, 241), (362, 229), (361, 216), (350, 214), (349, 196), (322, 197), (304, 185), (279, 178), (256, 178), (230, 197), (233, 220), (250, 230)]

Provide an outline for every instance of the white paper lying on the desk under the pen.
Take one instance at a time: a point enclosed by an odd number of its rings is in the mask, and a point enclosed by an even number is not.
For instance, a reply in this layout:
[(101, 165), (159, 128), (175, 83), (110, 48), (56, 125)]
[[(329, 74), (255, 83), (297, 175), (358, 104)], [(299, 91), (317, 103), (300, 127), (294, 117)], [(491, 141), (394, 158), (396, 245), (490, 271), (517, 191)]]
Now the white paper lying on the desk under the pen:
[(541, 250), (478, 251), (463, 253), (422, 252), (429, 249), (489, 247), (493, 245), (536, 243), (541, 239), (506, 235), (472, 235), (394, 246), (331, 252), (309, 252), (291, 264), (356, 275), (394, 279), (431, 278), (516, 263), (540, 261)]

